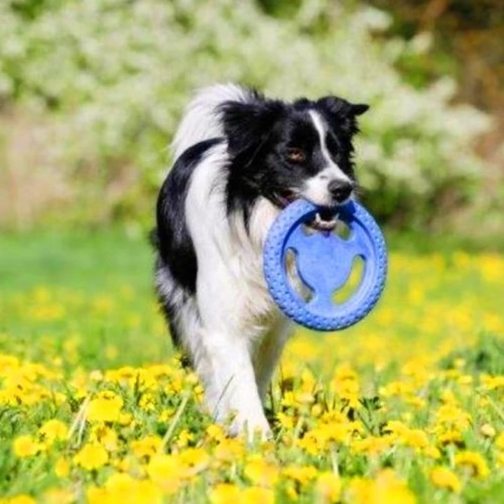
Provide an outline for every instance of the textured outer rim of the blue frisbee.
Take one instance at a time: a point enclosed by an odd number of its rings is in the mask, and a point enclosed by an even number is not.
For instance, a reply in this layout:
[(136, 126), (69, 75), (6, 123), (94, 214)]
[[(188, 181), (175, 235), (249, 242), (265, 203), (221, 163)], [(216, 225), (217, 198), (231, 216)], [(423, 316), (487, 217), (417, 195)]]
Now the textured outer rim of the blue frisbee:
[[(363, 253), (355, 256), (364, 258), (364, 274), (357, 291), (344, 303), (334, 304), (331, 314), (310, 310), (291, 286), (286, 274), (285, 256), (292, 247), (289, 238), (297, 228), (309, 223), (319, 207), (299, 199), (284, 208), (267, 234), (264, 251), (264, 274), (268, 289), (275, 303), (291, 319), (309, 329), (337, 331), (352, 326), (366, 317), (378, 302), (387, 277), (387, 251), (385, 239), (371, 214), (355, 201), (349, 201), (335, 209), (335, 215), (351, 230), (350, 240), (358, 239), (367, 244)], [(342, 238), (339, 238), (343, 240)], [(371, 252), (371, 255), (370, 255)], [(338, 267), (338, 265), (327, 265)], [(302, 272), (299, 272), (302, 277)]]

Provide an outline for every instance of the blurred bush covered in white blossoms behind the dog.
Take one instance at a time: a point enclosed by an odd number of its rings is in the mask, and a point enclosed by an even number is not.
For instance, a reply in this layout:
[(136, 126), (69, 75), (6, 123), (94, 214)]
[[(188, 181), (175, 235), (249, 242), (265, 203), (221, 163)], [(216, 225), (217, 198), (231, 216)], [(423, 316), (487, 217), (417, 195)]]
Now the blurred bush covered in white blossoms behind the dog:
[(44, 119), (48, 159), (32, 169), (65, 173), (80, 211), (99, 202), (87, 217), (149, 213), (182, 107), (214, 81), (371, 103), (357, 161), (385, 218), (428, 218), (439, 194), (459, 193), (481, 170), (472, 142), (486, 117), (451, 105), (449, 79), (405, 84), (394, 62), (427, 51), (429, 39), (373, 39), (389, 23), (373, 8), (305, 0), (277, 19), (253, 0), (25, 0), (2, 2), (0, 18), (0, 103)]

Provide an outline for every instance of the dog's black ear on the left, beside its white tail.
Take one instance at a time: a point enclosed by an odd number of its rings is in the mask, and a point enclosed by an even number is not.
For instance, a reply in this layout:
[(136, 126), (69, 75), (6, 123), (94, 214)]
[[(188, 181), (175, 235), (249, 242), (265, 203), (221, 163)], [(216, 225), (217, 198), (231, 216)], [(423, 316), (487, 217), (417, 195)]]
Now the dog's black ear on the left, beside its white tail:
[[(281, 102), (225, 102), (220, 106), (230, 154), (256, 152), (283, 110)], [(251, 153), (253, 154), (253, 153)]]

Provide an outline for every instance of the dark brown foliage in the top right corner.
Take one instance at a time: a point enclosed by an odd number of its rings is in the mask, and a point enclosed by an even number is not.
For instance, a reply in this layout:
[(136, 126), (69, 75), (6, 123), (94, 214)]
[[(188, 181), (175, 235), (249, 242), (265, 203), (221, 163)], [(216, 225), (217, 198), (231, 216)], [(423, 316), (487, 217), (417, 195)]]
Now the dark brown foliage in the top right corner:
[[(460, 78), (460, 98), (484, 110), (498, 111), (503, 106), (504, 97), (499, 88), (503, 66), (496, 65), (504, 57), (500, 44), (504, 11), (500, 0), (477, 3), (471, 0), (371, 0), (371, 4), (390, 10), (394, 31), (405, 38), (418, 32), (432, 32), (444, 58), (442, 54), (424, 58), (421, 67), (427, 74), (438, 74), (440, 69), (449, 67)], [(446, 53), (453, 58), (447, 60)]]

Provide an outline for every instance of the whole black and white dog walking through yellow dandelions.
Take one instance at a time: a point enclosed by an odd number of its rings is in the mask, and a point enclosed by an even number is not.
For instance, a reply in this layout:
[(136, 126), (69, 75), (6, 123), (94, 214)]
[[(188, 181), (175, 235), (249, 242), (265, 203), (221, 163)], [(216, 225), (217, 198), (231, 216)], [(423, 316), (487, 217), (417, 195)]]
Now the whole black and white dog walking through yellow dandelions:
[[(334, 96), (293, 103), (232, 84), (206, 88), (173, 140), (157, 202), (155, 281), (175, 345), (218, 420), (270, 426), (262, 401), (289, 336), (263, 277), (263, 244), (281, 208), (351, 198), (352, 137), (367, 105)], [(314, 227), (335, 223), (317, 216)]]

